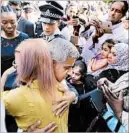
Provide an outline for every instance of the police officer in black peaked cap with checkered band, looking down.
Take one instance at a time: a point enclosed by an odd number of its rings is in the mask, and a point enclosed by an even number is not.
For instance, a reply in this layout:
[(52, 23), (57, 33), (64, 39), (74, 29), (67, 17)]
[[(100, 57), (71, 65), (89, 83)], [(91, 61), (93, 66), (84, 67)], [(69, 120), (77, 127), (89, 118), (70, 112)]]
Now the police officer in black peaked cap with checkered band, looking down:
[(63, 7), (61, 9), (58, 4), (52, 4), (53, 3), (48, 2), (48, 4), (39, 7), (41, 11), (40, 21), (42, 22), (43, 27), (43, 33), (40, 37), (43, 37), (43, 39), (48, 42), (55, 38), (65, 39), (59, 30), (60, 19), (63, 16)]

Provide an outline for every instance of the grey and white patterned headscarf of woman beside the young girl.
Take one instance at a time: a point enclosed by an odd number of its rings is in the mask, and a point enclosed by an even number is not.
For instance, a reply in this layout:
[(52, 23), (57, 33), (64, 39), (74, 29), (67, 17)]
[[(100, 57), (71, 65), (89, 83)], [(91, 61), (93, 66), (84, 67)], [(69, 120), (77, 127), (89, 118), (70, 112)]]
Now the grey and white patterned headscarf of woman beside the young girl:
[(126, 43), (117, 43), (114, 45), (116, 49), (116, 63), (109, 64), (108, 69), (129, 70), (129, 45)]

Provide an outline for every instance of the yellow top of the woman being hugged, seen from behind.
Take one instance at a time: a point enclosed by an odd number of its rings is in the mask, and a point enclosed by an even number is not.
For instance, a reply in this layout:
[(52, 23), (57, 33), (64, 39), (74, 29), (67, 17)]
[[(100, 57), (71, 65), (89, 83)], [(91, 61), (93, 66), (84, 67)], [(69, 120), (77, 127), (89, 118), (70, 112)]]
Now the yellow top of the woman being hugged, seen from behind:
[[(63, 95), (58, 88), (55, 90), (57, 98)], [(68, 110), (62, 117), (55, 116), (52, 112), (52, 102), (41, 96), (37, 81), (31, 84), (31, 88), (22, 86), (2, 92), (2, 99), (8, 113), (15, 117), (19, 128), (27, 130), (38, 120), (41, 121), (39, 128), (43, 128), (54, 121), (58, 126), (55, 132), (68, 132)]]

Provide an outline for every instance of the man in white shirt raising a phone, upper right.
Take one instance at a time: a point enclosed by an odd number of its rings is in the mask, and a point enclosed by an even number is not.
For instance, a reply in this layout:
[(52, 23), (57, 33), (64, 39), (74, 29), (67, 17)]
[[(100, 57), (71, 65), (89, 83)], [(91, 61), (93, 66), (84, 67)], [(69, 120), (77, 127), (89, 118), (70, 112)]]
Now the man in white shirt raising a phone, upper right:
[[(105, 40), (114, 39), (121, 41), (125, 38), (121, 19), (125, 16), (127, 10), (127, 1), (115, 1), (112, 3), (108, 14), (108, 21), (112, 24), (112, 26), (110, 26), (112, 33), (107, 32), (106, 29), (102, 27), (102, 23), (99, 23), (97, 20), (92, 20), (89, 23), (87, 29), (91, 26), (94, 26), (95, 29), (84, 45), (82, 51), (82, 56), (85, 59), (85, 62), (93, 58), (100, 51), (101, 45)], [(109, 23), (108, 21), (106, 21), (107, 24)]]

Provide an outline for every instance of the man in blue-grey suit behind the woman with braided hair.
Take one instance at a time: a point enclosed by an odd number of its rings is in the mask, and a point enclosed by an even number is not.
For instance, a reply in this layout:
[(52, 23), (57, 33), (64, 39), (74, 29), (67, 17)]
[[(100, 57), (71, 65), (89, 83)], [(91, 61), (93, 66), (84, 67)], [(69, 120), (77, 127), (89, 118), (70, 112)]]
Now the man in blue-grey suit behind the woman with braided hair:
[[(21, 15), (21, 1), (20, 0), (9, 0), (8, 3), (12, 8), (15, 9), (16, 14), (17, 14), (17, 19), (18, 19), (18, 25), (17, 25), (17, 30), (24, 32), (28, 34), (30, 38), (34, 38), (34, 24), (27, 19), (25, 19)], [(25, 12), (27, 8), (23, 9)]]

